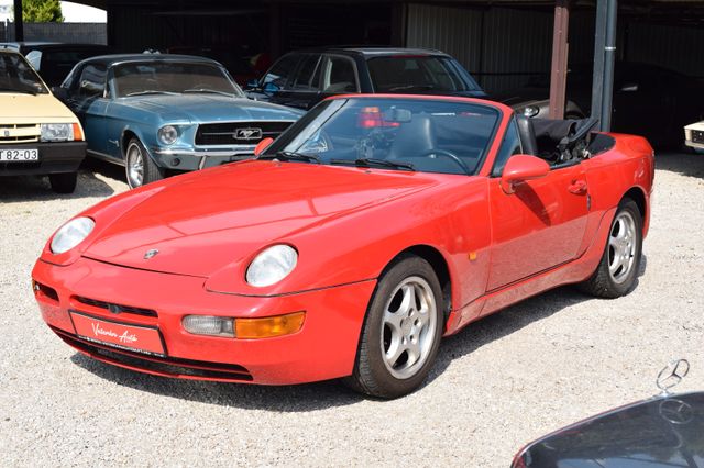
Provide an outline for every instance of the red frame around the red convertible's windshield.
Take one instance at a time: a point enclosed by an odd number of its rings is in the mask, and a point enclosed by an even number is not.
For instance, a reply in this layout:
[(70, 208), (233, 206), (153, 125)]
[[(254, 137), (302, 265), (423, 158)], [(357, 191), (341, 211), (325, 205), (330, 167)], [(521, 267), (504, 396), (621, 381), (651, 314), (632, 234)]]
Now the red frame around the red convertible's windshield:
[[(422, 170), (415, 169), (419, 172), (433, 172), (433, 174), (447, 174), (447, 175), (464, 175), (464, 176), (476, 176), (482, 171), (490, 154), (492, 153), (492, 148), (495, 146), (496, 137), (498, 131), (502, 126), (502, 122), (506, 119), (505, 111), (498, 107), (493, 105), (491, 101), (477, 100), (472, 98), (457, 98), (457, 97), (442, 97), (442, 96), (433, 96), (432, 98), (421, 97), (421, 96), (397, 96), (397, 94), (345, 94), (339, 96), (334, 98), (328, 98), (316, 105), (314, 109), (304, 114), (298, 121), (296, 121), (293, 125), (290, 125), (286, 132), (284, 132), (278, 138), (276, 138), (262, 154), (258, 155), (258, 158), (262, 159), (272, 159), (275, 158), (277, 154), (280, 153), (298, 153), (293, 147), (300, 147), (321, 127), (323, 127), (330, 119), (333, 119), (336, 114), (348, 107), (350, 101), (430, 101), (433, 103), (457, 103), (464, 105), (474, 105), (477, 108), (483, 108), (488, 112), (495, 113), (494, 124), (492, 126), (491, 132), (486, 135), (485, 145), (476, 158), (476, 163), (474, 167), (471, 168), (469, 172), (448, 172), (448, 171), (431, 171), (431, 170)], [(374, 105), (374, 104), (372, 104)], [(319, 121), (316, 125), (311, 125), (312, 122)], [(439, 147), (438, 149), (442, 149)], [(300, 152), (305, 154), (305, 152)], [(337, 165), (333, 163), (333, 157), (328, 159), (322, 159), (320, 164), (326, 166)], [(337, 159), (340, 163), (339, 159)], [(354, 159), (349, 160), (350, 164), (354, 163)], [(403, 161), (402, 161), (403, 163)], [(378, 166), (374, 166), (375, 168), (380, 168)], [(386, 168), (388, 169), (388, 168)], [(403, 168), (397, 168), (398, 170), (403, 170)]]

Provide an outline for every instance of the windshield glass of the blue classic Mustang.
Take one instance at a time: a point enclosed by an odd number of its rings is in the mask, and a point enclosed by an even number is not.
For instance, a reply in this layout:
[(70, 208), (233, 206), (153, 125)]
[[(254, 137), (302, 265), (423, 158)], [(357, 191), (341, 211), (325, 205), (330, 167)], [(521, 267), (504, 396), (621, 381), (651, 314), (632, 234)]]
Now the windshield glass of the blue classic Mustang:
[(224, 69), (209, 64), (145, 62), (114, 67), (119, 98), (145, 93), (217, 93), (243, 97)]

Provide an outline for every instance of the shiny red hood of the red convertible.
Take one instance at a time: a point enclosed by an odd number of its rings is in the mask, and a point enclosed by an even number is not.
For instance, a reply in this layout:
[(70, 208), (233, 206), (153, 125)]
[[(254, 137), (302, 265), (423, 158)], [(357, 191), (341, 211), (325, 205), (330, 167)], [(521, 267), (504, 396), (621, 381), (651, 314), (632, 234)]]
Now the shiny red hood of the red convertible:
[[(157, 189), (145, 186), (134, 191), (134, 205), (105, 220), (109, 225), (98, 225), (99, 234), (82, 255), (127, 267), (210, 277), (268, 245), (295, 243), (297, 236), (324, 229), (331, 220), (437, 181), (422, 172), (250, 160), (160, 183)], [(145, 197), (147, 190), (152, 193)], [(98, 224), (100, 218), (96, 216)], [(158, 254), (145, 259), (151, 249)]]

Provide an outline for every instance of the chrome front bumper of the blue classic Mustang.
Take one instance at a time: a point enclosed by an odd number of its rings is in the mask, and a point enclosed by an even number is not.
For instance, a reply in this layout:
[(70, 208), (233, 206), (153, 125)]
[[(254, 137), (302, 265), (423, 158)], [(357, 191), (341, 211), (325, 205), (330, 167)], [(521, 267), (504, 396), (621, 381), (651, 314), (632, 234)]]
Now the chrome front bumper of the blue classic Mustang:
[(218, 149), (152, 148), (156, 164), (167, 169), (198, 170), (254, 157), (254, 145)]

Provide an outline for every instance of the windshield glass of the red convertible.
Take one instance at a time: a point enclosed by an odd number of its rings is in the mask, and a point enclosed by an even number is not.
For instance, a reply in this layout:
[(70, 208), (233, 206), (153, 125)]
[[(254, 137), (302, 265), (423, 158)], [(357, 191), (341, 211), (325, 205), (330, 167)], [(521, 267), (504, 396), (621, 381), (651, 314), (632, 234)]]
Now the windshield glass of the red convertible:
[(499, 118), (494, 107), (469, 102), (336, 99), (304, 115), (262, 157), (307, 155), (328, 165), (475, 174)]

